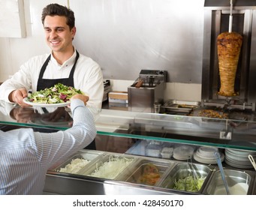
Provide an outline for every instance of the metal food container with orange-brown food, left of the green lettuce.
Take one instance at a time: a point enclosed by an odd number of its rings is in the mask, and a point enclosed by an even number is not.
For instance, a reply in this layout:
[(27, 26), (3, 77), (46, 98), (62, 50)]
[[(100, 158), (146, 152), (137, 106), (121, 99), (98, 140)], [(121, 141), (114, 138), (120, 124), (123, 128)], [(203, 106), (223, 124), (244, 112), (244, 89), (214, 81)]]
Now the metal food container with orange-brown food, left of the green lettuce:
[(135, 184), (157, 186), (164, 177), (164, 172), (173, 167), (171, 160), (158, 160), (155, 158), (141, 158), (136, 164), (129, 167), (120, 175), (120, 180)]

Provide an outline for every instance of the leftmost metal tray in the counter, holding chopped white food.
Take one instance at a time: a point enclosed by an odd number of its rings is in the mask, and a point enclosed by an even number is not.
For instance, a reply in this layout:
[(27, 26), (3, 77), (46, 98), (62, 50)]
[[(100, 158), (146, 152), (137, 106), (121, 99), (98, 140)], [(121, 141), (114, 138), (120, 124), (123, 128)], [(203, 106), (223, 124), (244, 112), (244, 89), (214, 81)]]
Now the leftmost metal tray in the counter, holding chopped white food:
[[(55, 169), (53, 169), (53, 171), (55, 172), (59, 172), (60, 169), (65, 168), (65, 166), (67, 166), (68, 164), (71, 163), (72, 160), (76, 159), (76, 158), (80, 158), (80, 159), (84, 159), (84, 160), (89, 160), (89, 163), (92, 163), (92, 160), (96, 160), (97, 157), (100, 157), (101, 154), (104, 154), (104, 152), (101, 151), (89, 151), (89, 150), (80, 150), (77, 151), (76, 154), (72, 155), (71, 157), (68, 158), (68, 160), (65, 160), (64, 163), (61, 163), (59, 166), (57, 166)], [(88, 163), (88, 164), (89, 164)], [(86, 164), (86, 166), (88, 165)], [(81, 168), (82, 169), (82, 168)], [(78, 170), (77, 172), (70, 172), (71, 174), (78, 174), (80, 170)], [(69, 173), (69, 172), (66, 172)]]

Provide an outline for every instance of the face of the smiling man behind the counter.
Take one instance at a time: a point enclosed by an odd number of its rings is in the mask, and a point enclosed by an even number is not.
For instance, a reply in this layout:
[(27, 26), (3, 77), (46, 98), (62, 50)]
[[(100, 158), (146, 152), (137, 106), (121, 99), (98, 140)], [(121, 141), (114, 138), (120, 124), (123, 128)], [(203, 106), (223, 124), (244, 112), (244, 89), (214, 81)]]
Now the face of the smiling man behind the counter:
[(66, 17), (47, 16), (44, 20), (45, 39), (53, 52), (66, 52), (72, 47), (76, 28), (69, 28)]

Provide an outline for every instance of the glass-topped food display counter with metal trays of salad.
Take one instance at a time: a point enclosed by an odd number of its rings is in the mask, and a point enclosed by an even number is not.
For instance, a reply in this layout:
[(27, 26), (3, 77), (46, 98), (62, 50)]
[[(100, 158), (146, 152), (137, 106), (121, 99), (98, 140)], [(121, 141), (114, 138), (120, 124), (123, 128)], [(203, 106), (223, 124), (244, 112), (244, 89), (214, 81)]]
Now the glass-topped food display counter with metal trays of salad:
[[(32, 110), (34, 112), (34, 108)], [(45, 124), (40, 120), (21, 123), (2, 113), (0, 124), (2, 130), (33, 127), (43, 132), (65, 130), (70, 127), (69, 124), (58, 124), (58, 122)], [(255, 194), (255, 171), (247, 158), (248, 154), (256, 157), (256, 121), (254, 120), (103, 109), (95, 124), (98, 130), (95, 139), (97, 150), (78, 151), (77, 154), (50, 169), (47, 172), (44, 193), (214, 193), (215, 189), (211, 187), (214, 185), (211, 184), (212, 181), (218, 184), (221, 181), (218, 180), (218, 165), (209, 155), (212, 155), (213, 151), (218, 151), (221, 154), (224, 169), (232, 171), (232, 173), (227, 172), (232, 179), (230, 183), (234, 181), (245, 183), (248, 185), (247, 194)], [(230, 138), (227, 138), (227, 135), (230, 135)], [(113, 148), (116, 148), (116, 152), (113, 152)], [(100, 169), (101, 165), (109, 161), (110, 157), (124, 157), (132, 161), (113, 178), (90, 175), (95, 169)], [(72, 163), (74, 159), (88, 160), (88, 163), (77, 172), (62, 172), (61, 169)], [(145, 178), (143, 172), (144, 166), (147, 165), (153, 167), (154, 173), (146, 175)], [(191, 192), (181, 188), (174, 189), (173, 183), (179, 181), (179, 178), (192, 175), (193, 170), (188, 167), (191, 165), (194, 166), (197, 175), (199, 177), (202, 175), (204, 178), (200, 190)], [(156, 170), (154, 170), (155, 167)], [(173, 177), (176, 178), (173, 180)]]

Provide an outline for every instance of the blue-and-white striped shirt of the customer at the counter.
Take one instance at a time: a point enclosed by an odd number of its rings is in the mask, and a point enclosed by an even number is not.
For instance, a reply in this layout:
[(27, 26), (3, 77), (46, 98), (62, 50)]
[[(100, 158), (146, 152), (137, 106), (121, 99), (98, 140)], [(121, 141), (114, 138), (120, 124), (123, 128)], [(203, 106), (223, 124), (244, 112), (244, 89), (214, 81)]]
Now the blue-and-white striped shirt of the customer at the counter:
[(42, 194), (47, 169), (92, 142), (92, 113), (78, 99), (71, 102), (71, 110), (73, 126), (65, 131), (0, 130), (0, 194)]

